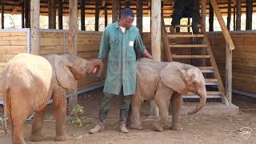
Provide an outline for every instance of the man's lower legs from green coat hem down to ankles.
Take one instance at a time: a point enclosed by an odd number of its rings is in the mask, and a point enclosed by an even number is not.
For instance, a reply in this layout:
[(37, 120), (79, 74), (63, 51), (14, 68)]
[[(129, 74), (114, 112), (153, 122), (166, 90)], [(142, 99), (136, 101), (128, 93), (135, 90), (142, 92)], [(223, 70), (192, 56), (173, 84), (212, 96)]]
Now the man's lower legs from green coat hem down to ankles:
[[(111, 102), (113, 102), (115, 94), (104, 94), (104, 97), (102, 98), (102, 103), (100, 106), (100, 110), (98, 112), (98, 123), (100, 125), (103, 125), (104, 120), (106, 118), (106, 115), (108, 114), (110, 110), (110, 105)], [(120, 95), (121, 96), (121, 95)], [(127, 117), (129, 113), (129, 108), (130, 108), (130, 97), (131, 95), (126, 95), (121, 98), (121, 106), (120, 106), (120, 115), (119, 115), (119, 120), (120, 122), (126, 124), (127, 122)]]

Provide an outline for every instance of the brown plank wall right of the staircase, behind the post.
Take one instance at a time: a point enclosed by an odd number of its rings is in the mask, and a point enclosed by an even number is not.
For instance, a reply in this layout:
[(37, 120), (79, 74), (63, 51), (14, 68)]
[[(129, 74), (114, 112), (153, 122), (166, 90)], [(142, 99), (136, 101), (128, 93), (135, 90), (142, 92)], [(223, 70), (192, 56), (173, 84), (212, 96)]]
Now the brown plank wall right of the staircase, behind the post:
[[(231, 32), (231, 37), (235, 45), (235, 50), (233, 50), (233, 90), (256, 93), (256, 32)], [(210, 33), (209, 38), (222, 82), (225, 82), (225, 40), (220, 33)]]

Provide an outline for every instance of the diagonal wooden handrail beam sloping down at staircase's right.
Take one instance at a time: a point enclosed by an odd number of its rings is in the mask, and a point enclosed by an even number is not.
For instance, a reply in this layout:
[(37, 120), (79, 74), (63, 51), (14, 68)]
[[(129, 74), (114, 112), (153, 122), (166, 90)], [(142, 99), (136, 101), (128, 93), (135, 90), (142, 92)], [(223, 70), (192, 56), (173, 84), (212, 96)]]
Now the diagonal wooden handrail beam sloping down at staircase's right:
[(220, 10), (218, 9), (218, 4), (217, 4), (216, 0), (210, 0), (210, 2), (214, 8), (214, 12), (218, 19), (218, 23), (222, 28), (222, 34), (224, 35), (225, 41), (228, 42), (228, 44), (230, 46), (230, 50), (234, 50), (234, 42), (230, 36), (229, 30), (227, 30), (227, 28), (225, 26), (225, 22), (222, 18), (222, 14), (221, 14)]

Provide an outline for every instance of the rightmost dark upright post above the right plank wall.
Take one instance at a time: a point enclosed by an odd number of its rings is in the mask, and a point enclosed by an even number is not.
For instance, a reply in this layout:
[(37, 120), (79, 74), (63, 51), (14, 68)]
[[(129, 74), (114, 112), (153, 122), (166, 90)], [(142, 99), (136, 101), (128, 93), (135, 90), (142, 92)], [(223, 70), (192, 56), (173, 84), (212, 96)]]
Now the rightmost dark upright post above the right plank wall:
[(246, 0), (246, 30), (252, 29), (253, 0)]

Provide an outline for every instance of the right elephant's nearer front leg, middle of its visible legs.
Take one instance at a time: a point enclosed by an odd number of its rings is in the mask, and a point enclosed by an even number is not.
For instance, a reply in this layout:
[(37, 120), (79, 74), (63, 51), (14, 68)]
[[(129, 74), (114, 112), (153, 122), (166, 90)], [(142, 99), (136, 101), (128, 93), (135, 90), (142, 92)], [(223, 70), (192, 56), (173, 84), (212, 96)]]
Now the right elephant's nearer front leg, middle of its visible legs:
[(168, 107), (172, 93), (173, 90), (170, 90), (170, 88), (166, 86), (159, 87), (156, 92), (155, 102), (159, 108), (160, 120), (159, 122), (154, 122), (155, 130), (163, 131), (164, 128), (168, 126)]

